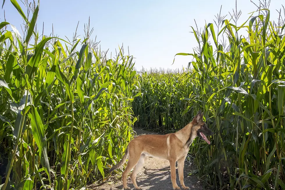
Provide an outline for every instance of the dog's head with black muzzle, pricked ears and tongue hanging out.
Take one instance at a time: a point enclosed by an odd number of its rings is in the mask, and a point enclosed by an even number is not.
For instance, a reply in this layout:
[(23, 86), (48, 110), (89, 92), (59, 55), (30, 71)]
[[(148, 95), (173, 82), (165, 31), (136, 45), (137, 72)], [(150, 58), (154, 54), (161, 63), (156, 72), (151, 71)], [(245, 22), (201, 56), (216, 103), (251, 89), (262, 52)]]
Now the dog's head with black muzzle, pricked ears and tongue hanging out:
[(199, 136), (203, 141), (206, 141), (208, 144), (210, 144), (210, 141), (208, 140), (207, 136), (211, 136), (214, 133), (207, 127), (206, 123), (203, 120), (204, 113), (201, 113), (201, 110), (197, 113), (197, 115), (194, 117), (192, 124), (192, 132), (193, 135)]

